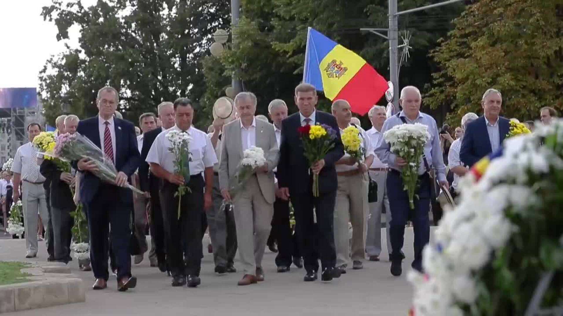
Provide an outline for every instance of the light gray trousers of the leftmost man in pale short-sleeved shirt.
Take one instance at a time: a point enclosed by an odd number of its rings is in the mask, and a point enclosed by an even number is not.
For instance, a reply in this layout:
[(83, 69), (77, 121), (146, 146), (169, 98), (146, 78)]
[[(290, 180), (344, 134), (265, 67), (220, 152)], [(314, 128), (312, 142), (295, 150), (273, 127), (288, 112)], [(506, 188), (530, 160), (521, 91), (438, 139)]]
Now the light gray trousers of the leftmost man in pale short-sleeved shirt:
[[(37, 254), (37, 229), (39, 225), (37, 214), (41, 216), (44, 224), (49, 223), (43, 184), (34, 184), (22, 180), (21, 203), (24, 209), (25, 249), (29, 254)], [(52, 238), (52, 236), (46, 237)]]

